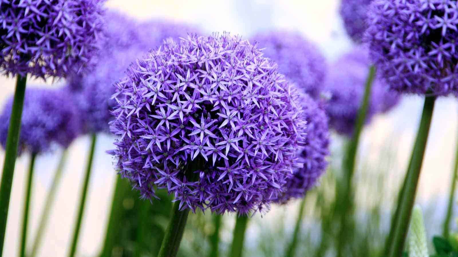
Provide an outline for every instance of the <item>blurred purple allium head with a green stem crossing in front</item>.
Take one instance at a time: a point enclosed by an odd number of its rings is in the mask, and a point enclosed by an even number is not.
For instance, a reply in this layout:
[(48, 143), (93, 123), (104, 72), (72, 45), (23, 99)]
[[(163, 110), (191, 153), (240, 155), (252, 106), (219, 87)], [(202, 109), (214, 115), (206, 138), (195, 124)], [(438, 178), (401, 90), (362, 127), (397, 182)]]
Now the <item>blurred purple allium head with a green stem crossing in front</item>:
[[(369, 54), (365, 47), (354, 48), (338, 59), (329, 70), (325, 91), (330, 94), (326, 104), (329, 126), (339, 134), (353, 134), (365, 82), (369, 74)], [(389, 90), (385, 80), (376, 76), (366, 113), (366, 123), (378, 112), (387, 112), (399, 102), (397, 92)]]

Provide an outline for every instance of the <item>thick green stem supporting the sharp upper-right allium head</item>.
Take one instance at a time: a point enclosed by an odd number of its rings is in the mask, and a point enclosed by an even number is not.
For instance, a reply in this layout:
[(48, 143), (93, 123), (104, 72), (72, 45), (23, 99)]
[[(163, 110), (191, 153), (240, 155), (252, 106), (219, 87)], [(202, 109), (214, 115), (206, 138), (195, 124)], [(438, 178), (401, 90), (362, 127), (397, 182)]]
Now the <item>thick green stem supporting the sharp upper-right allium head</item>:
[(436, 96), (425, 97), (425, 104), (423, 106), (420, 127), (418, 129), (417, 138), (415, 139), (412, 157), (403, 183), (401, 195), (398, 198), (398, 210), (396, 210), (396, 217), (393, 219), (393, 231), (390, 231), (393, 240), (390, 245), (387, 245), (387, 247), (389, 247), (387, 251), (388, 257), (401, 256), (404, 249), (405, 237), (409, 228), (410, 215), (412, 214), (412, 208), (415, 201), (415, 193), (420, 177), (423, 156), (425, 155), (426, 142), (428, 140), (435, 101)]

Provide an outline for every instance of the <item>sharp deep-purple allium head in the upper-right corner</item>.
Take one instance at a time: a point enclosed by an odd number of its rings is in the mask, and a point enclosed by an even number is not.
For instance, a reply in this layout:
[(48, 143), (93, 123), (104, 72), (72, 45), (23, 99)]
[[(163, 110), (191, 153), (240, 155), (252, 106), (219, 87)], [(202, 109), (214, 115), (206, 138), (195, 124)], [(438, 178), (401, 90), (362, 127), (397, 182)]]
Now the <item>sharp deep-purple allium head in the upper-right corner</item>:
[(374, 0), (368, 24), (371, 57), (393, 90), (457, 93), (457, 1)]

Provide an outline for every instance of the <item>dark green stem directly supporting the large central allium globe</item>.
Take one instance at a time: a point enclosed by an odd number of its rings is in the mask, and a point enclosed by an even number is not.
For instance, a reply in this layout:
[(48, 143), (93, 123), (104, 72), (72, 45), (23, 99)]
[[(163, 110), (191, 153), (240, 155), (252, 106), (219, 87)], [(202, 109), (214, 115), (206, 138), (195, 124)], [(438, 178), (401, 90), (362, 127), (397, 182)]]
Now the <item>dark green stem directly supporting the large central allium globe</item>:
[(180, 202), (174, 203), (172, 218), (165, 231), (158, 257), (175, 257), (180, 247), (181, 238), (185, 232), (189, 208), (180, 211)]

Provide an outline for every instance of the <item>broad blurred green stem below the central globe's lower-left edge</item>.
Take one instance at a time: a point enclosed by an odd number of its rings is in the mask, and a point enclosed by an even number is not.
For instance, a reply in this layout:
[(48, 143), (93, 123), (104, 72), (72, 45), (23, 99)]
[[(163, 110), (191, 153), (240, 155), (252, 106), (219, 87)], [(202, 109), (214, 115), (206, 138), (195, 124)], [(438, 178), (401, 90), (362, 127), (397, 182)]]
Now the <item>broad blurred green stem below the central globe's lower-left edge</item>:
[(119, 234), (119, 222), (123, 211), (122, 201), (124, 200), (126, 186), (129, 183), (125, 182), (120, 175), (116, 175), (116, 185), (114, 187), (113, 201), (111, 203), (111, 212), (105, 235), (104, 248), (102, 249), (101, 257), (110, 257), (114, 246), (114, 238)]

